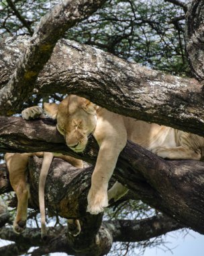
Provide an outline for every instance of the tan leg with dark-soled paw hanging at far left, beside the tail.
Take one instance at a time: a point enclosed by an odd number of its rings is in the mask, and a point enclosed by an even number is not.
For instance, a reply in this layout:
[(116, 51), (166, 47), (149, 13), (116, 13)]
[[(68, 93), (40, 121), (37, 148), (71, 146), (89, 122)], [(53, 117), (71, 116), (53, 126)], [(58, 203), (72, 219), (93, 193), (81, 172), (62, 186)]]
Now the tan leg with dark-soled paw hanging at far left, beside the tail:
[(13, 230), (17, 233), (25, 229), (28, 212), (30, 189), (27, 183), (26, 168), (29, 154), (7, 153), (5, 162), (9, 170), (11, 186), (17, 195), (17, 214), (13, 222)]

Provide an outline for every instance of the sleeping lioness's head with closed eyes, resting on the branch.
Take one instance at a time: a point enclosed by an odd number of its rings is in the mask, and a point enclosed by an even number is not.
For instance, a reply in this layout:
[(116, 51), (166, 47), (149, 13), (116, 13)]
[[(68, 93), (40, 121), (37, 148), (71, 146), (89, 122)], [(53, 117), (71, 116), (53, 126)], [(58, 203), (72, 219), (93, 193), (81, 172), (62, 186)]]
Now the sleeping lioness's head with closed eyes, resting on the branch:
[(85, 98), (69, 95), (60, 104), (44, 103), (45, 113), (57, 119), (57, 129), (64, 135), (66, 145), (75, 152), (83, 152), (89, 135), (97, 124), (98, 106)]

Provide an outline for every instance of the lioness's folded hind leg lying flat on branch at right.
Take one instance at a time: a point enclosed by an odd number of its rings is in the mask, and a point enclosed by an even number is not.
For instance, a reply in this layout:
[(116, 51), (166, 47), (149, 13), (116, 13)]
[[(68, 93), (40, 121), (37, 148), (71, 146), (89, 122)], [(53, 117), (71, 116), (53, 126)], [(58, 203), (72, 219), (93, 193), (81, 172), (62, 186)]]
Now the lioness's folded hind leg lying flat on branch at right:
[(183, 146), (179, 146), (176, 148), (164, 148), (157, 147), (152, 150), (154, 154), (160, 156), (161, 158), (168, 158), (172, 160), (182, 160), (182, 159), (192, 159), (192, 160), (200, 160), (201, 153), (195, 152), (189, 148), (185, 148)]

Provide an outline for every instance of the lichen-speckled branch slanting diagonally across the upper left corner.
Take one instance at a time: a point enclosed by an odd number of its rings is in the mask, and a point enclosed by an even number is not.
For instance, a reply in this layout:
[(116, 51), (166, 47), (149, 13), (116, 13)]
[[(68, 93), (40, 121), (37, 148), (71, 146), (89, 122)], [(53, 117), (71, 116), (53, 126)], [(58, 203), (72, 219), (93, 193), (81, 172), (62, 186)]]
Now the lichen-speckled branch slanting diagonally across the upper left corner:
[(50, 59), (58, 39), (68, 28), (89, 17), (104, 2), (105, 0), (64, 0), (42, 17), (7, 86), (0, 90), (1, 113), (15, 113), (12, 104), (19, 107), (20, 102), (32, 95), (38, 74)]

